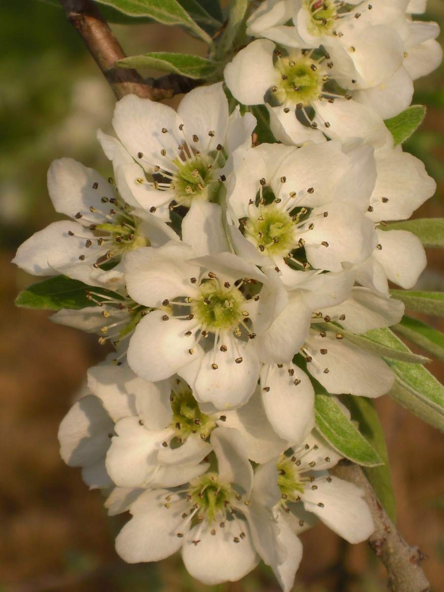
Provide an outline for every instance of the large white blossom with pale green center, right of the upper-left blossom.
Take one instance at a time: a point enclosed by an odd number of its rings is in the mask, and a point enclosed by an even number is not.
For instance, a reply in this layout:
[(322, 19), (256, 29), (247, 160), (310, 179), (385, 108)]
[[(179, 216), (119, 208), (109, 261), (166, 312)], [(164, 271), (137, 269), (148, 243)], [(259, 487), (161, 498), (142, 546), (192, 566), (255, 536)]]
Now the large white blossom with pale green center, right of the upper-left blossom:
[(234, 249), (263, 269), (276, 269), (287, 287), (313, 271), (342, 272), (377, 245), (366, 217), (375, 184), (369, 146), (349, 150), (339, 142), (299, 149), (261, 144), (234, 170), (227, 202)]

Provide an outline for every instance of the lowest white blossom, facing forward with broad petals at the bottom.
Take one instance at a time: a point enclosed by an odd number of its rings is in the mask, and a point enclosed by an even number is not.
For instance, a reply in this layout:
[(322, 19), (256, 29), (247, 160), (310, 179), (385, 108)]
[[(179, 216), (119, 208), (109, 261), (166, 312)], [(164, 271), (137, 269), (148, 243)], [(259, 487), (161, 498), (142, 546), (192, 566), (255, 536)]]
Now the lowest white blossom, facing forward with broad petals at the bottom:
[(145, 491), (128, 505), (132, 518), (116, 539), (125, 561), (159, 561), (181, 549), (186, 570), (208, 585), (239, 580), (260, 557), (284, 561), (285, 549), (273, 545), (275, 520), (250, 501), (253, 469), (239, 432), (217, 428), (210, 442), (217, 470), (178, 489)]

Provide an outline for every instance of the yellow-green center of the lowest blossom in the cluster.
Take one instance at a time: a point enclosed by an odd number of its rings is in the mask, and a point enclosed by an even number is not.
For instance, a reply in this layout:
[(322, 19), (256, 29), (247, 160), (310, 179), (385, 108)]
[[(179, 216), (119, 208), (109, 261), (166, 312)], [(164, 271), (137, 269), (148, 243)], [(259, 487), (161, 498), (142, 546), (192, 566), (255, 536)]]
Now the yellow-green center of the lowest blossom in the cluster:
[(204, 516), (211, 525), (218, 513), (226, 513), (226, 507), (234, 497), (231, 485), (223, 484), (217, 473), (210, 472), (189, 482), (189, 495), (199, 508), (200, 516)]

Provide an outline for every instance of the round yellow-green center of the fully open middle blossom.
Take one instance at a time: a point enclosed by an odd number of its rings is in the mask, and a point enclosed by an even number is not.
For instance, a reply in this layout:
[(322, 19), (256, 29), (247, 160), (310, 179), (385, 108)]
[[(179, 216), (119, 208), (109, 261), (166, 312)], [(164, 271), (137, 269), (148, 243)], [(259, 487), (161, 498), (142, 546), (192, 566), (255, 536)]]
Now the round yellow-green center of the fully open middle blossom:
[(243, 309), (246, 298), (236, 287), (210, 279), (201, 284), (200, 291), (201, 296), (192, 302), (191, 313), (205, 329), (234, 329), (248, 316)]

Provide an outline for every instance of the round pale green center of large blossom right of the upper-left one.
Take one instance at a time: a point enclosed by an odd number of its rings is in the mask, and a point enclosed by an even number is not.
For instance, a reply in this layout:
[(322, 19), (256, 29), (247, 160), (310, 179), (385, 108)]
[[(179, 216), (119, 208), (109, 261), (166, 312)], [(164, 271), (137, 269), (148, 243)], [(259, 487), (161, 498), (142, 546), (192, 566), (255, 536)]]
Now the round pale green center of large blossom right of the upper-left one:
[(246, 219), (244, 234), (264, 255), (282, 256), (295, 247), (294, 224), (274, 204), (259, 205), (256, 216)]

